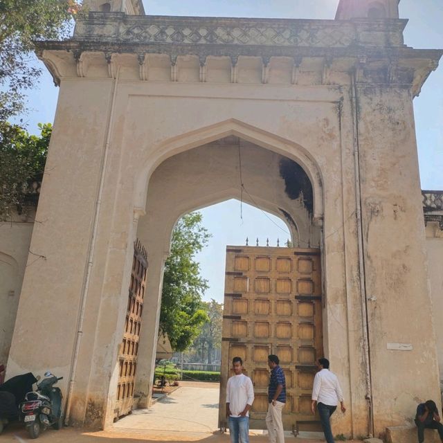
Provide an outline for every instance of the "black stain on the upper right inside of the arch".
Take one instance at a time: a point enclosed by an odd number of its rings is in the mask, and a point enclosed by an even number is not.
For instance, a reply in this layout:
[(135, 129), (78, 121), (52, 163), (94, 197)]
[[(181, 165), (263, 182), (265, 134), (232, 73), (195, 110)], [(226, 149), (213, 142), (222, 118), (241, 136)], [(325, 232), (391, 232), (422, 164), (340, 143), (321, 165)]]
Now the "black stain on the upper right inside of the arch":
[(312, 215), (314, 213), (312, 184), (303, 168), (291, 159), (281, 159), (280, 177), (284, 180), (284, 191), (287, 196), (291, 200), (296, 200), (301, 196), (303, 206)]

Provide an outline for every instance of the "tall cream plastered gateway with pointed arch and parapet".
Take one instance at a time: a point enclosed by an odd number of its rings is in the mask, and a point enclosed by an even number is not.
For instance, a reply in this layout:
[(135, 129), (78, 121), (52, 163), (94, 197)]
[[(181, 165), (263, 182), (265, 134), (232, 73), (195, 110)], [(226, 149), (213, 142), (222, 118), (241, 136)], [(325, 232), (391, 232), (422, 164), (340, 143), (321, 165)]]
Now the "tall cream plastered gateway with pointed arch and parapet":
[[(341, 0), (323, 21), (84, 3), (73, 39), (38, 44), (60, 96), (30, 246), (45, 260), (26, 268), (8, 375), (51, 369), (71, 423), (111, 423), (138, 237), (147, 404), (172, 226), (238, 196), (242, 152), (253, 199), (320, 244), (324, 352), (350, 405), (336, 431), (405, 424), (439, 392), (433, 334), (418, 341), (432, 320), (412, 99), (442, 52), (404, 45), (398, 0)], [(300, 177), (310, 204), (291, 194)]]

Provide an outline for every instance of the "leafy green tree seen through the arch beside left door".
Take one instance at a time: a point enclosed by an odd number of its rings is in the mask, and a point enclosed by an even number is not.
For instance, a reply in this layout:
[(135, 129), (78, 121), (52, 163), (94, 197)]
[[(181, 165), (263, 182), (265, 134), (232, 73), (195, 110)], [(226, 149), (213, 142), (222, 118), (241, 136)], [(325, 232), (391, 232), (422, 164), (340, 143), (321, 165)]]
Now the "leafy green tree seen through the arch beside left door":
[(210, 237), (201, 218), (201, 213), (190, 213), (179, 219), (165, 263), (160, 328), (168, 334), (174, 351), (186, 350), (208, 321), (201, 301), (208, 282), (201, 278), (200, 266), (194, 260)]

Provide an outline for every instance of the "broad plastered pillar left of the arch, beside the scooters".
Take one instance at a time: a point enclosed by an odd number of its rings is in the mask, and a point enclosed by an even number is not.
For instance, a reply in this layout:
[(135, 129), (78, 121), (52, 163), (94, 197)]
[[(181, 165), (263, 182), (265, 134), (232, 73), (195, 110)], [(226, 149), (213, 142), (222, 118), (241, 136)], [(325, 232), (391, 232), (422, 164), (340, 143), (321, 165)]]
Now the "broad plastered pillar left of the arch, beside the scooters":
[[(114, 125), (112, 115), (125, 106), (114, 86), (113, 79), (62, 81), (37, 208), (42, 222), (30, 246), (42, 258), (28, 258), (8, 361), (8, 377), (29, 370), (64, 377), (69, 421), (80, 426), (113, 418), (135, 239), (133, 183), (116, 180), (127, 156), (113, 136), (124, 119)], [(89, 100), (95, 112), (84, 116)]]

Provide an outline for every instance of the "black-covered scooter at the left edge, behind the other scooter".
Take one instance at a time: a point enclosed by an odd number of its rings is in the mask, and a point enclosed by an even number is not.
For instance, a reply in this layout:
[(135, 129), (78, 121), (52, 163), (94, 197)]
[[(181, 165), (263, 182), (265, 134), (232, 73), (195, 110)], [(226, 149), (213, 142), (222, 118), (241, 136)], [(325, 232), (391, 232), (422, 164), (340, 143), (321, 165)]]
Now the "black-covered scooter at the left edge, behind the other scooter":
[(33, 389), (36, 379), (31, 372), (12, 377), (0, 385), (0, 433), (10, 422), (19, 419), (19, 404), (26, 392)]

